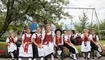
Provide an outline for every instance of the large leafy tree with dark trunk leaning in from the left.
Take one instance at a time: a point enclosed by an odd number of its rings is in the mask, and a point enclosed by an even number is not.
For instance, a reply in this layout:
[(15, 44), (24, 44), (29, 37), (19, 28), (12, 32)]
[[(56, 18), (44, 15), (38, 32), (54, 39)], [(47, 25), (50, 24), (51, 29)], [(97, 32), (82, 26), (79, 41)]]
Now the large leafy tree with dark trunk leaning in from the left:
[(0, 11), (6, 15), (3, 26), (0, 26), (0, 37), (12, 22), (24, 22), (27, 19), (26, 15), (37, 18), (39, 23), (44, 20), (60, 20), (67, 14), (62, 7), (69, 3), (65, 0), (1, 0), (1, 2), (3, 8), (0, 8)]

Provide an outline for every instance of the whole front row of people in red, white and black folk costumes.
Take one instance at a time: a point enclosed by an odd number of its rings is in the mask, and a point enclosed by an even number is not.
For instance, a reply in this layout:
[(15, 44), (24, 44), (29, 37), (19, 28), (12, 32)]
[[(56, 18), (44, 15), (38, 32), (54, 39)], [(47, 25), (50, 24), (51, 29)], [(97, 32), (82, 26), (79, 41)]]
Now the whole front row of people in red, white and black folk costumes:
[[(14, 52), (18, 51), (18, 60), (22, 58), (29, 58), (29, 60), (41, 60), (48, 59), (51, 56), (51, 60), (54, 60), (54, 52), (57, 56), (63, 59), (64, 47), (68, 48), (70, 57), (73, 60), (78, 60), (78, 50), (71, 41), (72, 38), (82, 38), (81, 52), (84, 59), (90, 59), (91, 52), (96, 50), (96, 56), (101, 57), (101, 46), (98, 36), (95, 34), (95, 29), (92, 29), (89, 34), (88, 29), (83, 30), (83, 34), (73, 34), (71, 30), (67, 29), (64, 32), (61, 29), (53, 31), (51, 25), (47, 24), (44, 30), (37, 26), (36, 31), (31, 33), (29, 27), (26, 28), (26, 32), (22, 34), (17, 32), (15, 36), (14, 31), (9, 31), (9, 36), (6, 40), (8, 43), (8, 52), (14, 60)], [(55, 49), (54, 49), (55, 48)]]

